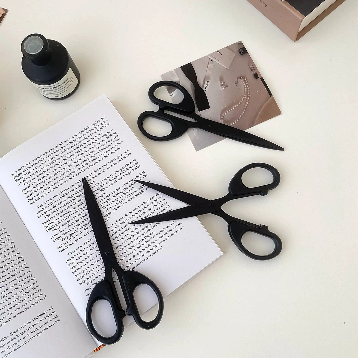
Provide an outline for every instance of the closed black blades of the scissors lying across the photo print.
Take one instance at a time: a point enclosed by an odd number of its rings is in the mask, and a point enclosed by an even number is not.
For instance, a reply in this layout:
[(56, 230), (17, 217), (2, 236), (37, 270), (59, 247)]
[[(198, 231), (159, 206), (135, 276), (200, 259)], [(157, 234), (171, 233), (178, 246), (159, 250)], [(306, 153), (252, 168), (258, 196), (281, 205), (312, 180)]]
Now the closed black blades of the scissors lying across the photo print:
[(198, 128), (202, 128), (205, 131), (221, 135), (239, 142), (256, 145), (258, 147), (275, 149), (275, 150), (284, 150), (277, 144), (274, 144), (266, 139), (260, 138), (251, 133), (245, 132), (241, 129), (228, 126), (226, 124), (205, 120), (198, 121)]

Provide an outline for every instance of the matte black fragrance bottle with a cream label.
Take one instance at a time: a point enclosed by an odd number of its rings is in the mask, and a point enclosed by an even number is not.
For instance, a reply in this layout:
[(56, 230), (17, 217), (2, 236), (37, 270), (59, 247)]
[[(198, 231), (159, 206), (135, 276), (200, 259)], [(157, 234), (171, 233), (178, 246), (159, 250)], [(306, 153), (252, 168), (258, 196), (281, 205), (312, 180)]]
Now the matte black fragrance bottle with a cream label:
[(63, 100), (76, 92), (79, 72), (62, 44), (31, 34), (21, 43), (21, 52), (25, 76), (44, 97)]

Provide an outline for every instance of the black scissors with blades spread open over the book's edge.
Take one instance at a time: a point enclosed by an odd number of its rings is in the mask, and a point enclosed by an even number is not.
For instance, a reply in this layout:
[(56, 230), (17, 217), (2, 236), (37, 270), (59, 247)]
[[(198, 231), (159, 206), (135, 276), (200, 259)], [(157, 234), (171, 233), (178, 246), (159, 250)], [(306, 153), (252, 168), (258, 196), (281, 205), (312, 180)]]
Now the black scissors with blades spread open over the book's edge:
[[(242, 175), (245, 173), (245, 171), (251, 168), (264, 168), (269, 170), (274, 177), (274, 180), (271, 184), (265, 184), (261, 187), (246, 187), (242, 182)], [(198, 197), (197, 195), (182, 192), (181, 190), (165, 187), (159, 184), (143, 182), (141, 180), (136, 180), (136, 182), (144, 184), (147, 187), (157, 190), (158, 192), (168, 195), (172, 198), (181, 200), (184, 203), (190, 204), (190, 206), (162, 213), (156, 216), (151, 216), (142, 220), (132, 222), (131, 224), (144, 224), (158, 221), (177, 220), (212, 213), (214, 215), (222, 217), (228, 223), (228, 230), (232, 241), (243, 253), (245, 253), (246, 256), (251, 257), (255, 260), (269, 260), (270, 258), (276, 257), (281, 252), (281, 239), (276, 234), (269, 231), (269, 228), (267, 226), (256, 225), (247, 221), (234, 218), (232, 216), (229, 216), (221, 209), (222, 205), (227, 203), (229, 200), (250, 197), (252, 195), (257, 194), (266, 195), (269, 190), (276, 188), (277, 185), (279, 185), (280, 183), (280, 173), (277, 169), (275, 169), (269, 164), (252, 163), (244, 166), (231, 179), (231, 182), (229, 184), (229, 193), (222, 198), (214, 200), (208, 200), (202, 197)], [(253, 231), (262, 236), (269, 237), (275, 244), (274, 251), (272, 251), (269, 255), (256, 255), (248, 251), (242, 244), (242, 236), (248, 231)]]

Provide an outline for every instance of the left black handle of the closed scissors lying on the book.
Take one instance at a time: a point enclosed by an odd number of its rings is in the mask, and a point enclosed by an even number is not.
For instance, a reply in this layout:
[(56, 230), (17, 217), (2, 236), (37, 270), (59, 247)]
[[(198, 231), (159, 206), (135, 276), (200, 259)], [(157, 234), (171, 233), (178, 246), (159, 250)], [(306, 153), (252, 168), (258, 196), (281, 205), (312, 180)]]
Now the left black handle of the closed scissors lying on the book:
[[(92, 308), (93, 305), (99, 300), (106, 300), (110, 303), (114, 320), (116, 322), (116, 332), (111, 337), (103, 337), (100, 335), (92, 323)], [(117, 291), (114, 287), (114, 283), (109, 282), (107, 280), (102, 280), (98, 282), (98, 284), (93, 287), (91, 295), (89, 295), (87, 308), (86, 308), (86, 322), (89, 332), (95, 337), (97, 340), (104, 344), (113, 344), (116, 343), (123, 334), (124, 326), (122, 319), (125, 316), (125, 311), (122, 309)]]

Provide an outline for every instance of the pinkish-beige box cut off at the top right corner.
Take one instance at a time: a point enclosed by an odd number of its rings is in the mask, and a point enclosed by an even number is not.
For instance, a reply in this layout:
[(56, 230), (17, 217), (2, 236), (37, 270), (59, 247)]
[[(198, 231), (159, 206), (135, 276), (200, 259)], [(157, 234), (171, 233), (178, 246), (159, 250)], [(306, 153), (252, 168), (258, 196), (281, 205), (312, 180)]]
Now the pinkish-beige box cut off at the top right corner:
[[(337, 8), (344, 0), (330, 1), (328, 8), (324, 9), (318, 16), (314, 17), (317, 11), (320, 11), (320, 6), (324, 8), (325, 1), (317, 1), (319, 4), (316, 9), (306, 13), (301, 10), (303, 8), (299, 0), (247, 0), (249, 1), (257, 10), (259, 10), (263, 15), (267, 17), (272, 23), (274, 23), (279, 29), (281, 29), (291, 40), (297, 41), (304, 34), (308, 33), (309, 30), (314, 28), (321, 20), (323, 20), (327, 15), (332, 13), (332, 11)], [(326, 0), (329, 1), (329, 0)], [(297, 3), (297, 10), (291, 4)], [(307, 0), (306, 0), (307, 3)], [(309, 6), (309, 5), (308, 5)], [(311, 10), (311, 9), (309, 9)], [(310, 18), (313, 18), (310, 21)], [(305, 25), (305, 26), (304, 26)], [(304, 27), (303, 27), (304, 26)]]

